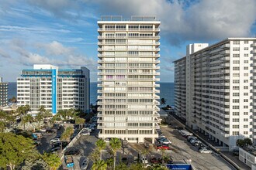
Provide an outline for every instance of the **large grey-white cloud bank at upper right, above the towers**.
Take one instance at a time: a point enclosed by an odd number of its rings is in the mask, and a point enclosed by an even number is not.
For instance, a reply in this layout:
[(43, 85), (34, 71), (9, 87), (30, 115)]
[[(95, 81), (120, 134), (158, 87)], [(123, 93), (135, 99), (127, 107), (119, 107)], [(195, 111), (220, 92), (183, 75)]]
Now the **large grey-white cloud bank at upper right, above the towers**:
[[(254, 0), (95, 0), (103, 15), (157, 15), (161, 34), (175, 46), (182, 42), (251, 36)], [(125, 7), (125, 8), (124, 8)]]

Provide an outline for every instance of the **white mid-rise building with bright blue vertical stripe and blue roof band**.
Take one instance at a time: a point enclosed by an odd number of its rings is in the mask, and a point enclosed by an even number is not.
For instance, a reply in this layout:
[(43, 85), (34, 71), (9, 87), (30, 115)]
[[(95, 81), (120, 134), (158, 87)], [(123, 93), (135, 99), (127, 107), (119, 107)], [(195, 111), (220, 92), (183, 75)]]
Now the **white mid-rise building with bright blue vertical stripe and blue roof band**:
[(85, 66), (81, 69), (59, 69), (48, 64), (35, 64), (33, 69), (22, 70), (17, 78), (17, 101), (29, 104), (32, 112), (40, 106), (53, 114), (70, 108), (87, 111), (90, 98), (90, 75)]

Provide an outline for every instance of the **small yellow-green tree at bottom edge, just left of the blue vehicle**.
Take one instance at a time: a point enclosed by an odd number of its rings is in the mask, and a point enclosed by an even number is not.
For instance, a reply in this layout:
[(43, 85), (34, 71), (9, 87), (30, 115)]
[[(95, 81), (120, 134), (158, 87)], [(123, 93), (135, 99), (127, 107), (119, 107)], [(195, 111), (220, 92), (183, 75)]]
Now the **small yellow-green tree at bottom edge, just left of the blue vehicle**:
[(44, 162), (47, 162), (50, 170), (57, 170), (62, 164), (61, 158), (59, 158), (58, 155), (54, 153), (44, 152), (42, 158)]

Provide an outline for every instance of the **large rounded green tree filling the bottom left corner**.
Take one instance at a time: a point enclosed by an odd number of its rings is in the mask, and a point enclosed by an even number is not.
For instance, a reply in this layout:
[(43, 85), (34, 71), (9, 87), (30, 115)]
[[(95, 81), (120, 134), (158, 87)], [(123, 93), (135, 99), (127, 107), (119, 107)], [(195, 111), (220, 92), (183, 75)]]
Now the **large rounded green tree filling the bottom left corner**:
[(33, 149), (33, 140), (12, 133), (0, 133), (0, 167), (9, 167), (11, 170), (20, 165)]

